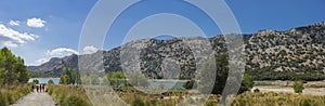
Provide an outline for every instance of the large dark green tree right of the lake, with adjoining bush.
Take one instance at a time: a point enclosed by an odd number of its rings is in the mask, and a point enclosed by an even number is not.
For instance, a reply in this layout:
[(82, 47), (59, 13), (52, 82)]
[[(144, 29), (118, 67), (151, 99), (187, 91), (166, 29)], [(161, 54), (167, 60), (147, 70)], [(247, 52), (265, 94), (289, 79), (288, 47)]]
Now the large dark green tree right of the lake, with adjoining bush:
[[(212, 94), (221, 94), (223, 92), (223, 89), (225, 87), (225, 83), (227, 80), (236, 82), (237, 79), (236, 77), (232, 77), (230, 76), (229, 78), (229, 54), (227, 53), (221, 53), (219, 55), (216, 55), (214, 57), (214, 64), (212, 64), (213, 59), (211, 61), (207, 61), (205, 68), (203, 69), (202, 74), (200, 74), (200, 79), (198, 81), (198, 90), (202, 93), (210, 93), (207, 91), (207, 88), (210, 88), (209, 84), (211, 83), (213, 84), (213, 89), (212, 89)], [(213, 67), (213, 65), (216, 65), (216, 67)], [(214, 72), (216, 76), (212, 76)], [(232, 75), (236, 75), (236, 71)], [(213, 78), (211, 77), (216, 77), (214, 81)], [(247, 74), (244, 74), (242, 83), (240, 83), (240, 88), (238, 93), (243, 93), (245, 91), (249, 91), (251, 88), (253, 87), (253, 80), (250, 76), (248, 76)]]

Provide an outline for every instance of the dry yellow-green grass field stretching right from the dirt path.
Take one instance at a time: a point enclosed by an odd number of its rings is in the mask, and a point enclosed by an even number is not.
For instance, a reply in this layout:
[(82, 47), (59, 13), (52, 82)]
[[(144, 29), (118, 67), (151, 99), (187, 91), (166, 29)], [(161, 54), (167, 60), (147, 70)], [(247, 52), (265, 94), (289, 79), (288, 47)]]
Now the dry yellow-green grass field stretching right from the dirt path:
[[(168, 90), (162, 94), (146, 94), (131, 87), (112, 90), (101, 87), (84, 87), (84, 89), (79, 85), (49, 85), (48, 92), (61, 106), (119, 106), (126, 105), (125, 103), (131, 106), (203, 104), (199, 98), (188, 97), (191, 91), (187, 90)], [(211, 95), (205, 106), (217, 106), (219, 98), (220, 95)], [(284, 92), (245, 92), (234, 97), (232, 106), (325, 106), (325, 96)]]

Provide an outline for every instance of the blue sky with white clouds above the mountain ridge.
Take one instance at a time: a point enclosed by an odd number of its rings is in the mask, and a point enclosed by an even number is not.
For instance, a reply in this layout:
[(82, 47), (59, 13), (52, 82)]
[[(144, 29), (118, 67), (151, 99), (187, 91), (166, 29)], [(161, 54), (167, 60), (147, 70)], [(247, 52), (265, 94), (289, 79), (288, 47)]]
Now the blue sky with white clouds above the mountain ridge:
[[(131, 6), (118, 16), (106, 35), (104, 50), (121, 45), (128, 38), (125, 35), (132, 34), (129, 38), (146, 38), (140, 36), (153, 35), (156, 32), (153, 31), (155, 28), (160, 35), (179, 34), (186, 37), (200, 36), (202, 30), (206, 37), (221, 34), (209, 24), (211, 21), (202, 11), (178, 2), (180, 0), (147, 1), (150, 2), (144, 6)], [(78, 49), (83, 24), (96, 2), (98, 0), (0, 0), (0, 48), (10, 48), (14, 54), (25, 58), (26, 65), (40, 65), (51, 57), (73, 53), (81, 54), (78, 51), (82, 51), (82, 54), (94, 53), (99, 47)], [(243, 34), (263, 29), (287, 30), (325, 22), (324, 0), (225, 0), (225, 3)], [(173, 14), (151, 15), (171, 11)], [(101, 14), (105, 14), (105, 11)], [(157, 26), (166, 28), (157, 29)], [(94, 31), (91, 37), (96, 36)]]

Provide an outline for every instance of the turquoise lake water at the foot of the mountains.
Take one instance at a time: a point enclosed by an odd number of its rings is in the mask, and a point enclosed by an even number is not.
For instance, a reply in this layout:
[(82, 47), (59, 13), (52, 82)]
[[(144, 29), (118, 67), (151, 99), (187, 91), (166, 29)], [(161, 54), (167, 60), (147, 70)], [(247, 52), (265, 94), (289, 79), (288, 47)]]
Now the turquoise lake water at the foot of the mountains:
[[(28, 82), (32, 82), (34, 79), (39, 80), (39, 83), (48, 83), (49, 80), (53, 80), (54, 84), (58, 84), (60, 78), (30, 78)], [(154, 81), (150, 80), (150, 87), (164, 87), (167, 89), (184, 89), (183, 83), (184, 81)]]

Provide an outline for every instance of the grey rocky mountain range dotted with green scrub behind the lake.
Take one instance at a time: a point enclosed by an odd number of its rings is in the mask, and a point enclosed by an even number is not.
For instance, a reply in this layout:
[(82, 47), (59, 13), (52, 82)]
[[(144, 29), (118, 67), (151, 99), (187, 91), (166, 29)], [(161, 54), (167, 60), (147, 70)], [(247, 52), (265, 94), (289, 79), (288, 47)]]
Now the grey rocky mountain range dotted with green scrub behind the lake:
[[(223, 38), (222, 35), (209, 38), (211, 48), (217, 54), (226, 51)], [(202, 39), (204, 38), (143, 39), (129, 42), (126, 45), (138, 48), (136, 50), (140, 51), (140, 66), (136, 69), (147, 74), (151, 78), (162, 78), (167, 70), (177, 69), (170, 68), (173, 66), (166, 67), (168, 65), (165, 65), (164, 68), (164, 61), (170, 58), (174, 61), (172, 63), (180, 65), (181, 70), (179, 71), (181, 74), (179, 76), (187, 79), (193, 77), (196, 70), (196, 59), (194, 58), (196, 52), (190, 45), (199, 44), (198, 42)], [(282, 75), (283, 72), (291, 74), (290, 76), (325, 74), (325, 23), (292, 28), (286, 31), (261, 30), (252, 35), (244, 35), (244, 40), (246, 70), (251, 75), (272, 75), (274, 77), (278, 76), (274, 74)], [(187, 41), (191, 44), (183, 41)], [(121, 70), (119, 57), (122, 47), (109, 51), (100, 51), (94, 54), (81, 55), (79, 56), (79, 64), (82, 68), (99, 72)], [(205, 48), (209, 48), (208, 44)], [(129, 62), (132, 62), (132, 59)], [(30, 66), (28, 68), (58, 76), (64, 67), (77, 69), (77, 65), (78, 56), (70, 55), (63, 58), (52, 58), (41, 66)], [(265, 79), (272, 78), (265, 77)]]

